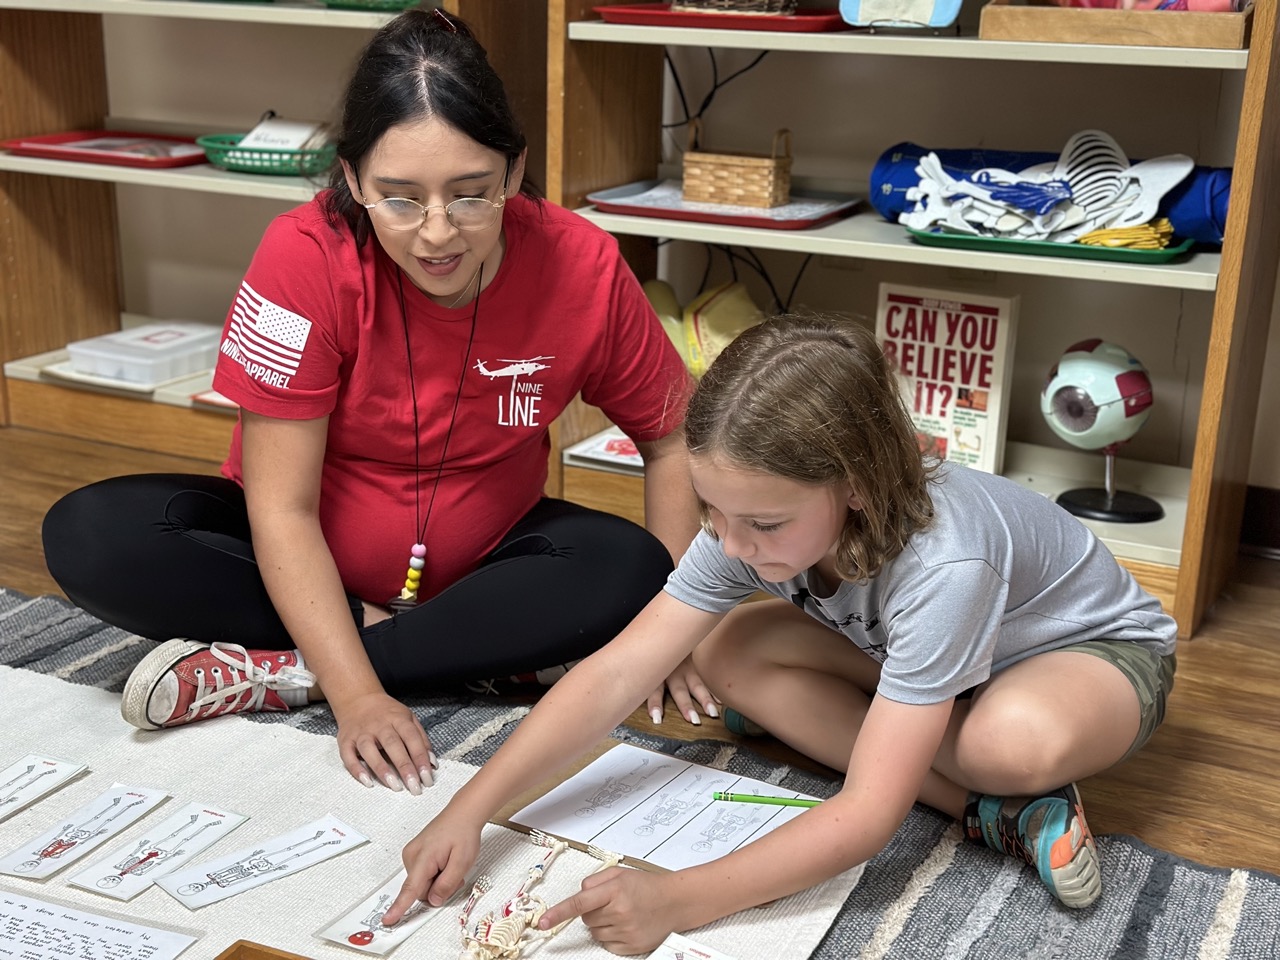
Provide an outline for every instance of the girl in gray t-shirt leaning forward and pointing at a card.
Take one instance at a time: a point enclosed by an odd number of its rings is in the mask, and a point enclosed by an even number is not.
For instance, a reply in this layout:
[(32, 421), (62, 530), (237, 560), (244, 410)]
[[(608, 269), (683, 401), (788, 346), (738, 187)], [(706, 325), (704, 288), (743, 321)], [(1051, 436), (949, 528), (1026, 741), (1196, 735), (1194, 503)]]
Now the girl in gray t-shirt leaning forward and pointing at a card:
[[(704, 531), (659, 594), (554, 686), (406, 847), (387, 911), (440, 904), (511, 797), (580, 755), (694, 650), (727, 707), (836, 769), (835, 797), (673, 873), (612, 869), (548, 910), (618, 954), (876, 855), (920, 800), (1032, 864), (1068, 906), (1101, 891), (1073, 781), (1142, 746), (1174, 621), (1064, 509), (922, 462), (873, 335), (777, 319), (716, 361), (685, 421)], [(774, 600), (739, 605), (763, 590)]]

